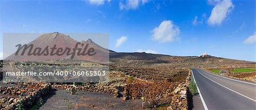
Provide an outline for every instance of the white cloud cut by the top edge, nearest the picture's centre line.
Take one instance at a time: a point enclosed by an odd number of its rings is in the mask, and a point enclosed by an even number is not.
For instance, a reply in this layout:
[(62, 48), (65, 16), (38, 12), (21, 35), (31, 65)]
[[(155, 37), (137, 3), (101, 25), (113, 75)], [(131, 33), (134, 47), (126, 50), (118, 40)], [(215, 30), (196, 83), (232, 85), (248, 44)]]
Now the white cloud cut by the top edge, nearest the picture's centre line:
[(148, 0), (127, 0), (125, 3), (122, 1), (119, 2), (120, 10), (135, 10), (139, 7), (139, 5), (144, 5), (148, 2)]

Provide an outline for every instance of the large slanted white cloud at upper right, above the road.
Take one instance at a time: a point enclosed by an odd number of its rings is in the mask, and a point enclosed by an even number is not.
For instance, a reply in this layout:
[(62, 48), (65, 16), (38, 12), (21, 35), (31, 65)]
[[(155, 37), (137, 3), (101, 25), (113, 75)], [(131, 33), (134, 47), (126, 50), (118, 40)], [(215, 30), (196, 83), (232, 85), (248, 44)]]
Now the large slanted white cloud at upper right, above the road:
[(233, 10), (234, 5), (231, 0), (217, 1), (208, 19), (209, 25), (220, 25), (226, 16)]

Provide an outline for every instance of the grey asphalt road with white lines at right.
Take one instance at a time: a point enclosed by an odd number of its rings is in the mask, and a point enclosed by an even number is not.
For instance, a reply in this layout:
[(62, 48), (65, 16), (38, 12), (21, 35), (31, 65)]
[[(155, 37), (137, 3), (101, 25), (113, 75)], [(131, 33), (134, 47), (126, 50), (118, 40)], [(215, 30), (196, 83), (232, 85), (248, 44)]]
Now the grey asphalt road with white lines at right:
[(205, 109), (256, 109), (256, 84), (192, 69)]

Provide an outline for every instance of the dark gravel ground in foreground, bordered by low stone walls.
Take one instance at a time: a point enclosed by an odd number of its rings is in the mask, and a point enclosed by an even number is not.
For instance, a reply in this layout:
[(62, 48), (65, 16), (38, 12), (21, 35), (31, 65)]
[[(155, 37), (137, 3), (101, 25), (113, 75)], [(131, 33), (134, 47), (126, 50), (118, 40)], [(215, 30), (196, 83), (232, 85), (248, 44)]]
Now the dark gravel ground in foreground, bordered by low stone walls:
[(142, 100), (127, 100), (114, 98), (112, 94), (52, 89), (44, 97), (44, 105), (39, 109), (142, 109)]

